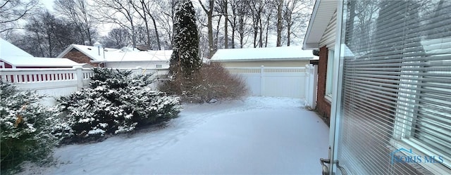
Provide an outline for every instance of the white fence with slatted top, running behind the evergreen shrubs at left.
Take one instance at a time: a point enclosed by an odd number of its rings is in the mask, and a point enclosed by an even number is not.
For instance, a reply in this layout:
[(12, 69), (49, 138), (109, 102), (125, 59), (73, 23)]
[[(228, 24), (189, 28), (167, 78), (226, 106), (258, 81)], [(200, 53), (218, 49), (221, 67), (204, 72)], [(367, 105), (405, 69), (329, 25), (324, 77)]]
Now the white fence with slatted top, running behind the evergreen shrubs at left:
[[(163, 78), (167, 69), (144, 70), (140, 67), (132, 69), (133, 74), (153, 74), (153, 78)], [(46, 105), (54, 105), (54, 98), (67, 96), (72, 92), (89, 85), (89, 78), (94, 72), (88, 68), (41, 68), (41, 69), (0, 69), (0, 79), (12, 82), (19, 89), (37, 91), (50, 96), (45, 99)], [(152, 84), (156, 88), (158, 82)]]

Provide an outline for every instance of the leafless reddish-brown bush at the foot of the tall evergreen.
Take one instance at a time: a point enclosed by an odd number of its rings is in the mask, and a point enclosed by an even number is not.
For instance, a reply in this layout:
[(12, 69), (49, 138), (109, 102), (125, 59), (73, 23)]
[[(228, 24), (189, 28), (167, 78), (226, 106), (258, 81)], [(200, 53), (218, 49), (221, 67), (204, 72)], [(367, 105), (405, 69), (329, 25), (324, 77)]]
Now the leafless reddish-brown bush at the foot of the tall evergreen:
[(245, 82), (221, 65), (203, 65), (192, 82), (176, 78), (160, 89), (181, 96), (183, 101), (197, 103), (233, 100), (247, 94)]

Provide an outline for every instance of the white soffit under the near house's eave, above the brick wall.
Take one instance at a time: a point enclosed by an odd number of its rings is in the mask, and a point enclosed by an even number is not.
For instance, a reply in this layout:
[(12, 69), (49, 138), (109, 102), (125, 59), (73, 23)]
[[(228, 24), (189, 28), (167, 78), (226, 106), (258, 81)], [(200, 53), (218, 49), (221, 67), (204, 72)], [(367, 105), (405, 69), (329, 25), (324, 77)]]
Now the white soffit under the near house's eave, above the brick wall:
[(326, 31), (333, 13), (336, 11), (338, 1), (316, 0), (309, 22), (309, 27), (304, 38), (303, 49), (319, 48), (319, 41)]

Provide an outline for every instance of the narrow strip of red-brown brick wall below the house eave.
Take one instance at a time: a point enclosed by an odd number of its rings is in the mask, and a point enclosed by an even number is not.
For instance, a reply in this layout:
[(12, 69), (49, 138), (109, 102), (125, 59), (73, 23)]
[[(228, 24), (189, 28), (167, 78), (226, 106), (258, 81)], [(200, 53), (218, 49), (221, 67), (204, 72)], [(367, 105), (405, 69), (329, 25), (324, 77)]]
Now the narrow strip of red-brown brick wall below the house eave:
[(330, 125), (330, 102), (324, 98), (326, 95), (327, 58), (328, 49), (326, 46), (319, 48), (318, 96), (316, 97), (316, 112), (319, 113), (326, 124)]

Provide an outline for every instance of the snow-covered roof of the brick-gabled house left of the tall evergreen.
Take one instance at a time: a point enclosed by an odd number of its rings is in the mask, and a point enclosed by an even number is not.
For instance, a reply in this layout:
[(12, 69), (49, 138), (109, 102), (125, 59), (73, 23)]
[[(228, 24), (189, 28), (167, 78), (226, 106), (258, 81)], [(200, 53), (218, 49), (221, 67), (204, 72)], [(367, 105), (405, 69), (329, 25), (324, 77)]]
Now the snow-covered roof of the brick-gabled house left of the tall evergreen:
[(86, 56), (92, 59), (93, 63), (100, 62), (127, 62), (127, 61), (169, 61), (172, 50), (166, 51), (139, 51), (136, 48), (124, 47), (116, 48), (102, 48), (97, 46), (84, 46), (78, 44), (71, 44), (61, 53), (58, 58), (63, 57), (72, 48), (85, 53)]

